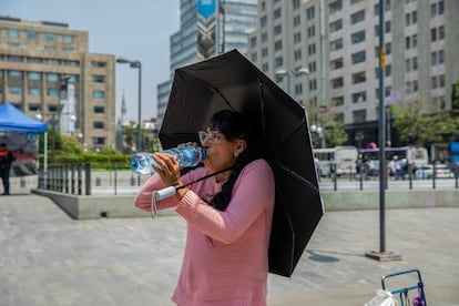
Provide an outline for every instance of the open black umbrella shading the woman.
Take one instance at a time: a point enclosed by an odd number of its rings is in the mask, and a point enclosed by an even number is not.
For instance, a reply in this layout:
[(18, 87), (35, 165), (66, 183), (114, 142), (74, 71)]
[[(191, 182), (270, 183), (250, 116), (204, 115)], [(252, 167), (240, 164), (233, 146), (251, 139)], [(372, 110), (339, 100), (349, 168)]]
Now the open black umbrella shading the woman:
[(175, 70), (160, 130), (163, 147), (197, 142), (221, 110), (257, 123), (276, 181), (269, 272), (290, 276), (324, 211), (306, 113), (236, 50)]

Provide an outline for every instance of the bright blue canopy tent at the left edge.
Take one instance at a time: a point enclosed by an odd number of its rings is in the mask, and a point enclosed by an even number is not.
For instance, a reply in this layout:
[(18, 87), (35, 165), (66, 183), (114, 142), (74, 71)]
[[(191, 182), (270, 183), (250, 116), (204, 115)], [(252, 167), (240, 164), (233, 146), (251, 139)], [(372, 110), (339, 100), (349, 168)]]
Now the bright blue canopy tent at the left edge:
[(44, 172), (48, 170), (47, 123), (34, 120), (11, 103), (0, 105), (0, 132), (44, 133)]

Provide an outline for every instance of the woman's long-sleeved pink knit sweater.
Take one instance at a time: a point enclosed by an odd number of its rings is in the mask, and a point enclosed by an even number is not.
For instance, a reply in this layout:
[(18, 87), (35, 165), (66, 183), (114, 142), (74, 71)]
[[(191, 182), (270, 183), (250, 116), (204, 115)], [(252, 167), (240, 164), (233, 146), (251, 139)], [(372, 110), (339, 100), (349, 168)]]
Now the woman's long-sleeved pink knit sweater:
[[(207, 174), (188, 172), (183, 183)], [(264, 160), (249, 163), (234, 184), (226, 211), (211, 207), (222, 188), (215, 177), (188, 186), (178, 202), (160, 201), (157, 208), (175, 206), (187, 222), (182, 271), (172, 300), (184, 305), (266, 305), (268, 244), (275, 201), (274, 176)], [(153, 190), (164, 187), (153, 175), (135, 197), (135, 206), (150, 211)], [(212, 237), (212, 242), (208, 239)]]

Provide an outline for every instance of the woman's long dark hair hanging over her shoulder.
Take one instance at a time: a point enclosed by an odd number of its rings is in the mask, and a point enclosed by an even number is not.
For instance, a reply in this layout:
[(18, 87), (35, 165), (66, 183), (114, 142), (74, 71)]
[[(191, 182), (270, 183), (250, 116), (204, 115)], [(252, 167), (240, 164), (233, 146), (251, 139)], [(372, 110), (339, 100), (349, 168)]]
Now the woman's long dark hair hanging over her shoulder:
[(228, 180), (223, 184), (222, 191), (210, 203), (216, 210), (225, 211), (231, 201), (234, 183), (239, 176), (241, 171), (252, 161), (262, 157), (262, 154), (256, 137), (256, 130), (251, 120), (243, 113), (227, 110), (220, 111), (212, 116), (210, 128), (220, 131), (228, 141), (242, 139), (246, 142), (246, 149), (237, 156)]

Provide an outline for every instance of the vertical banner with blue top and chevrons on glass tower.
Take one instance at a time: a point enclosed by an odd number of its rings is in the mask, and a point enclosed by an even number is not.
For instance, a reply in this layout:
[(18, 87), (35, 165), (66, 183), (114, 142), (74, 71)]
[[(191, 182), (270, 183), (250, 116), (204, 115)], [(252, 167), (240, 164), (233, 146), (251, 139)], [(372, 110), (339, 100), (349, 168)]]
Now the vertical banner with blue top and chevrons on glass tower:
[(197, 60), (217, 53), (217, 0), (197, 0)]

